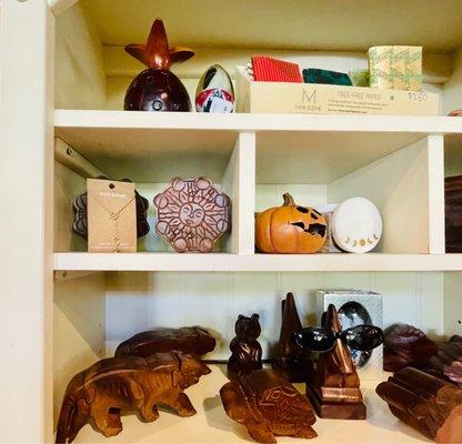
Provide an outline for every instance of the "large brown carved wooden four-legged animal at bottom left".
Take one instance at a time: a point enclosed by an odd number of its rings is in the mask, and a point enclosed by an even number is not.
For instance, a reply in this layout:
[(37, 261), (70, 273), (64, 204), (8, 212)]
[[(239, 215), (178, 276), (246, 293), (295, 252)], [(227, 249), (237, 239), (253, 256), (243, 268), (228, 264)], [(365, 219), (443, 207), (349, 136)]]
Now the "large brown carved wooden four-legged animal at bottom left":
[(90, 423), (104, 436), (122, 431), (121, 413), (135, 413), (143, 422), (159, 417), (157, 404), (180, 416), (195, 413), (184, 389), (210, 369), (181, 352), (101, 360), (78, 373), (69, 383), (59, 415), (57, 443), (71, 443)]

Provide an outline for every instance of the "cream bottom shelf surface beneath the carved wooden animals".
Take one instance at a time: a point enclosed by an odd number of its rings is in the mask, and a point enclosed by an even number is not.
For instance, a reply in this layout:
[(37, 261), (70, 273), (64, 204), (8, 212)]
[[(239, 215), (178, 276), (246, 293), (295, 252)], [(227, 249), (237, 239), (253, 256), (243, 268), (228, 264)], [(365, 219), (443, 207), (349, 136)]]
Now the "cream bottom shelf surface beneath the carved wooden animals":
[[(178, 417), (159, 408), (160, 417), (149, 424), (134, 415), (122, 417), (123, 431), (106, 438), (86, 425), (76, 443), (248, 443), (252, 442), (243, 425), (227, 416), (219, 391), (228, 382), (224, 365), (210, 365), (212, 373), (203, 376), (187, 393), (198, 411), (191, 417)], [(303, 384), (297, 384), (303, 391)], [(318, 418), (313, 443), (422, 443), (429, 442), (411, 427), (399, 422), (388, 405), (375, 394), (375, 383), (364, 382), (362, 392), (368, 407), (365, 421)], [(307, 440), (278, 437), (278, 443), (301, 443)]]

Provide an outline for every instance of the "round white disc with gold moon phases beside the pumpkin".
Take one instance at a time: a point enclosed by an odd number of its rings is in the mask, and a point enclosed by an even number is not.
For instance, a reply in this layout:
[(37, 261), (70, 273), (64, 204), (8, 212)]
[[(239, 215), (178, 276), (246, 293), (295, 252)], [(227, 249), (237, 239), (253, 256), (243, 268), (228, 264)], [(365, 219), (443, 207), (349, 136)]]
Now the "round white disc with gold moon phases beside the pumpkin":
[(366, 253), (376, 246), (382, 236), (382, 218), (368, 199), (351, 198), (335, 208), (331, 230), (342, 250)]

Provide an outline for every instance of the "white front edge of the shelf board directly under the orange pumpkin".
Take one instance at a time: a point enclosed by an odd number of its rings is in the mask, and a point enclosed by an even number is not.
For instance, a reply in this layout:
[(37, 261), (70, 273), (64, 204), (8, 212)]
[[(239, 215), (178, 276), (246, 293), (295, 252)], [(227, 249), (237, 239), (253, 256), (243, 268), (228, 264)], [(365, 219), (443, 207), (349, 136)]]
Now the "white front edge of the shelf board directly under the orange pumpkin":
[(54, 253), (57, 271), (462, 271), (462, 254)]

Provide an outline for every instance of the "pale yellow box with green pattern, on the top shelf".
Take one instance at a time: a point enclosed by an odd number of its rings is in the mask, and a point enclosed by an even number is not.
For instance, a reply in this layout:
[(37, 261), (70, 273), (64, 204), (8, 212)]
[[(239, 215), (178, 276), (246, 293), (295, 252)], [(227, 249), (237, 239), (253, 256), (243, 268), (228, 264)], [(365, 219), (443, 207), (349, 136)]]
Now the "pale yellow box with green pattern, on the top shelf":
[(370, 87), (422, 91), (422, 47), (369, 49)]

